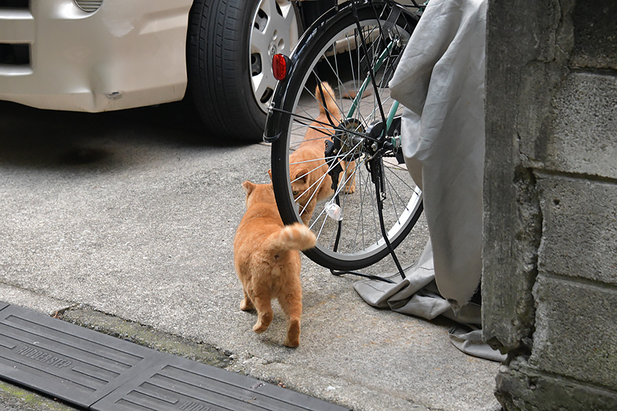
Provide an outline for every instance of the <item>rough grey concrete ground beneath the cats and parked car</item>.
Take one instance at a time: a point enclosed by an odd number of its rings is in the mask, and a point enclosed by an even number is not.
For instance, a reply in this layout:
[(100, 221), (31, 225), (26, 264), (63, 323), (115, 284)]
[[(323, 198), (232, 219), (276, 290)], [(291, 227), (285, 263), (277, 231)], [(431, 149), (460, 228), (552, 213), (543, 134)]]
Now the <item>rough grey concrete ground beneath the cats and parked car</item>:
[[(356, 411), (500, 408), (499, 364), (452, 346), (448, 321), (367, 306), (356, 277), (304, 256), (300, 347), (282, 346), (276, 304), (252, 332), (232, 243), (241, 182), (268, 182), (268, 145), (203, 136), (178, 103), (85, 114), (0, 102), (0, 147), (0, 301)], [(418, 224), (402, 262), (422, 251)], [(14, 391), (0, 386), (0, 410), (31, 409)]]

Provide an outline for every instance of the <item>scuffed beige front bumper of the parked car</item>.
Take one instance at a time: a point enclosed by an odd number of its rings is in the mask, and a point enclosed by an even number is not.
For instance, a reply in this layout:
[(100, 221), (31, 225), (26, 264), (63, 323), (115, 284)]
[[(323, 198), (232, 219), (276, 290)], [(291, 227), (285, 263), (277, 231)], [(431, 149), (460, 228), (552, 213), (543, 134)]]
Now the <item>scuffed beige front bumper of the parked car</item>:
[(0, 7), (0, 100), (101, 112), (177, 101), (186, 90), (186, 28), (193, 0), (73, 0)]

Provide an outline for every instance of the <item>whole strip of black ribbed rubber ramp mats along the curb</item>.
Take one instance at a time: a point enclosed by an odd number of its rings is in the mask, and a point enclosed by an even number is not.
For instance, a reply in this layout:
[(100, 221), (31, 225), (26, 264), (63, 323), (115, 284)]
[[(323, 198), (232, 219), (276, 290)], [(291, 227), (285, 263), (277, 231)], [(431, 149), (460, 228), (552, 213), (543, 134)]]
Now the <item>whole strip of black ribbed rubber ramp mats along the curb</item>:
[(0, 377), (95, 411), (348, 410), (2, 302)]

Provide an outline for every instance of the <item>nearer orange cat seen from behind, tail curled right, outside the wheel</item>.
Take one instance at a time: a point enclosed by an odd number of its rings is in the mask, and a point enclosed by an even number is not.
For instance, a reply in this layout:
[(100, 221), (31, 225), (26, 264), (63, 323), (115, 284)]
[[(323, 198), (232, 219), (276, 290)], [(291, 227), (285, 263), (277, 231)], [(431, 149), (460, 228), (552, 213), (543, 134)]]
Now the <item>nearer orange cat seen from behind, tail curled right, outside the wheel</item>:
[(302, 286), (300, 253), (315, 246), (315, 234), (303, 224), (283, 225), (272, 184), (242, 184), (246, 208), (234, 238), (234, 266), (242, 283), (240, 309), (257, 310), (253, 330), (265, 332), (274, 313), (271, 299), (277, 298), (287, 319), (285, 345), (300, 344)]

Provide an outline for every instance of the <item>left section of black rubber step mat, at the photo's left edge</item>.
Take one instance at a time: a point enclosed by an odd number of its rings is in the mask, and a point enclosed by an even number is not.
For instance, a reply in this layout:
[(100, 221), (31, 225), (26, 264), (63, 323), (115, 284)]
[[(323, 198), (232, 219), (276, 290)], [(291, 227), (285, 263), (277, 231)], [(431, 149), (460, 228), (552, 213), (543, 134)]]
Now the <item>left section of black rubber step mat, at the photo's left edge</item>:
[(89, 407), (162, 353), (17, 306), (0, 311), (0, 376)]

